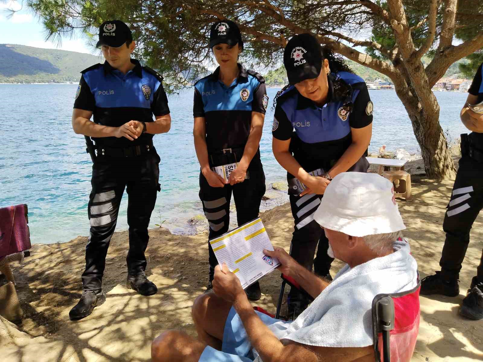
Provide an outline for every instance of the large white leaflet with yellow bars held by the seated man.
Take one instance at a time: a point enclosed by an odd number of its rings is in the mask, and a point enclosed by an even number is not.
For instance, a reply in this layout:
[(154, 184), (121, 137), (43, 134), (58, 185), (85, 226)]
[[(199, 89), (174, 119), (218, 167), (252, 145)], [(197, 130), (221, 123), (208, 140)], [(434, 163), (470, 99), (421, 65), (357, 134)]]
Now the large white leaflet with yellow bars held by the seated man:
[(280, 265), (277, 258), (263, 253), (264, 249), (273, 250), (273, 246), (260, 218), (209, 242), (218, 263), (225, 263), (235, 273), (243, 289)]

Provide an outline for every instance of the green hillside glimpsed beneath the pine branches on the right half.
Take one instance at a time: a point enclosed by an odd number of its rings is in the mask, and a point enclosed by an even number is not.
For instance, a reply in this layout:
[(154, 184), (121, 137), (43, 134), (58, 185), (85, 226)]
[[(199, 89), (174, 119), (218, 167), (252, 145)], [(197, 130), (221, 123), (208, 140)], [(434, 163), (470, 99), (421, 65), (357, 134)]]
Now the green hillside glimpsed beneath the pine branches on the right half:
[[(349, 59), (344, 59), (344, 61), (352, 70), (354, 70), (355, 74), (357, 74), (359, 77), (364, 79), (364, 81), (366, 82), (373, 82), (376, 79), (383, 79), (386, 82), (391, 81), (389, 77), (386, 77), (384, 74), (381, 74), (378, 71), (372, 70), (368, 67), (364, 67), (363, 65), (360, 65), (355, 61), (352, 61)], [(427, 57), (423, 58), (423, 64), (425, 65), (425, 67), (429, 64), (430, 61), (431, 61), (430, 58), (427, 58)], [(459, 69), (458, 69), (458, 64), (461, 62), (465, 63), (467, 62), (467, 60), (461, 59), (455, 62), (453, 65), (451, 65), (448, 68), (448, 70), (444, 74), (444, 77), (454, 76), (455, 78), (464, 78), (462, 73), (459, 73)], [(287, 73), (285, 72), (284, 67), (280, 67), (276, 70), (270, 70), (263, 77), (265, 78), (265, 82), (268, 86), (282, 87), (285, 84), (288, 84)]]

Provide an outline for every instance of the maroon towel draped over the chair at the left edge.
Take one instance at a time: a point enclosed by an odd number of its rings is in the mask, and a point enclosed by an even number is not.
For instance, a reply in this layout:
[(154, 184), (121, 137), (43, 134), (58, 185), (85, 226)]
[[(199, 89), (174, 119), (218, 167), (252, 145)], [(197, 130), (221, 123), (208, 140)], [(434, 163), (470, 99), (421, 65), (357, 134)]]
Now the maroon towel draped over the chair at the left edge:
[(0, 209), (0, 258), (31, 248), (25, 205)]

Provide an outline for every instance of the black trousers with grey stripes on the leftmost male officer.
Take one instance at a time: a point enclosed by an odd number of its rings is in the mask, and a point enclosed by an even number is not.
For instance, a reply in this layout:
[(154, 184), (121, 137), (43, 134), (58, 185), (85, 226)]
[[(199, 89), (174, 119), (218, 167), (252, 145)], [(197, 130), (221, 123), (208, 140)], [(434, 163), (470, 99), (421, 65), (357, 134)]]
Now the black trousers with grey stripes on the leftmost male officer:
[(128, 274), (146, 269), (148, 225), (159, 191), (159, 161), (156, 150), (131, 157), (100, 156), (92, 166), (92, 191), (88, 216), (90, 234), (85, 247), (84, 290), (101, 288), (107, 249), (117, 223), (124, 189), (128, 192), (129, 251)]

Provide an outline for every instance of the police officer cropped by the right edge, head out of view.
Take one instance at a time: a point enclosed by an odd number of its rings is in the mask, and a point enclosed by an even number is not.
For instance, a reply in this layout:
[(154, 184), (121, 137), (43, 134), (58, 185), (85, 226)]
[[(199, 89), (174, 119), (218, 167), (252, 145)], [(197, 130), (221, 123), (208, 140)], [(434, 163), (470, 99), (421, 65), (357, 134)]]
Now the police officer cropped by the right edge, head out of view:
[[(446, 232), (440, 259), (441, 271), (424, 278), (421, 294), (459, 294), (459, 271), (469, 244), (469, 231), (483, 209), (483, 70), (476, 72), (461, 110), (461, 122), (472, 131), (461, 135), (461, 159), (453, 192), (443, 222)], [(482, 103), (482, 104), (478, 104)], [(463, 299), (460, 314), (483, 319), (483, 253), (476, 276), (471, 279), (468, 295)]]

